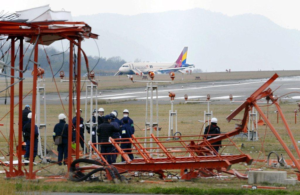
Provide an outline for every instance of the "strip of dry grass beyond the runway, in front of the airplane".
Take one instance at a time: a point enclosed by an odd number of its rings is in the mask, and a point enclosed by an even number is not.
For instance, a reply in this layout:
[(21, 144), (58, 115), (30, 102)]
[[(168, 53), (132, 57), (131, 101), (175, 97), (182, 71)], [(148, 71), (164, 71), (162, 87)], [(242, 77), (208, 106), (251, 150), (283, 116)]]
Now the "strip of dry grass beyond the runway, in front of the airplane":
[[(207, 73), (193, 73), (192, 75), (184, 74), (184, 80), (182, 81), (182, 74), (176, 73), (174, 79), (174, 84), (180, 83), (192, 83), (192, 82), (203, 82), (203, 81), (223, 81), (223, 80), (242, 80), (242, 79), (254, 79), (254, 78), (270, 78), (274, 73), (277, 73), (280, 77), (286, 76), (298, 76), (300, 75), (300, 70), (281, 70), (281, 71), (249, 71), (249, 72), (207, 72)], [(46, 93), (57, 93), (56, 86), (52, 82), (52, 78), (48, 78), (47, 75), (45, 84)], [(200, 76), (201, 80), (195, 80), (195, 76)], [(59, 92), (68, 92), (69, 85), (68, 82), (60, 82), (60, 78), (57, 76), (56, 84)], [(65, 79), (65, 78), (64, 78)], [(68, 79), (68, 78), (66, 78)], [(82, 77), (81, 80), (87, 80), (86, 77)], [(96, 79), (98, 77), (96, 76)], [(134, 79), (141, 80), (140, 77), (134, 75)], [(170, 80), (169, 75), (161, 74), (155, 75), (155, 80)], [(15, 79), (16, 81), (16, 79)], [(8, 84), (10, 84), (10, 79), (8, 79)], [(83, 85), (84, 82), (81, 83)], [(0, 80), (0, 89), (4, 89), (6, 86), (5, 80)], [(133, 88), (133, 87), (144, 87), (144, 83), (135, 83), (132, 82), (126, 77), (122, 76), (100, 76), (98, 81), (98, 90), (111, 90), (111, 89), (124, 89), (124, 88)], [(81, 86), (82, 87), (82, 86)], [(23, 94), (27, 94), (32, 90), (32, 78), (26, 78), (23, 81)], [(85, 88), (83, 89), (85, 90)], [(15, 96), (18, 96), (19, 93), (19, 84), (15, 85)], [(0, 97), (5, 96), (5, 91), (0, 93)], [(8, 95), (7, 95), (8, 96)]]

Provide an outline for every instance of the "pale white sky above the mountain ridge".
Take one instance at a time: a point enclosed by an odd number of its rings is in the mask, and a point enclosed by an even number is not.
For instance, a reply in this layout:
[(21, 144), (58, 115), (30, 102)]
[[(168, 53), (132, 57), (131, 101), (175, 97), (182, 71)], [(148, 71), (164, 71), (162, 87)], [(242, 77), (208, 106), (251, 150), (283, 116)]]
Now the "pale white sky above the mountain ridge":
[(261, 14), (282, 27), (300, 30), (298, 0), (13, 0), (3, 1), (1, 10), (15, 12), (46, 4), (50, 4), (52, 10), (64, 8), (71, 11), (73, 16), (95, 13), (136, 15), (199, 7), (229, 16), (243, 13)]

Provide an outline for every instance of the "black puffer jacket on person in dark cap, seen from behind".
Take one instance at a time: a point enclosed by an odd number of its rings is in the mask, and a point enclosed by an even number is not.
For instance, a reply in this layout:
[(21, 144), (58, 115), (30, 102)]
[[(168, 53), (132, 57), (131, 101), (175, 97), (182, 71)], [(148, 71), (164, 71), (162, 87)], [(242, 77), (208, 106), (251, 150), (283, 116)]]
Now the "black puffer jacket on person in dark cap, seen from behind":
[(98, 126), (97, 135), (99, 135), (99, 142), (108, 142), (109, 137), (113, 137), (114, 132), (120, 132), (121, 127), (116, 128), (107, 121), (104, 121), (101, 125)]

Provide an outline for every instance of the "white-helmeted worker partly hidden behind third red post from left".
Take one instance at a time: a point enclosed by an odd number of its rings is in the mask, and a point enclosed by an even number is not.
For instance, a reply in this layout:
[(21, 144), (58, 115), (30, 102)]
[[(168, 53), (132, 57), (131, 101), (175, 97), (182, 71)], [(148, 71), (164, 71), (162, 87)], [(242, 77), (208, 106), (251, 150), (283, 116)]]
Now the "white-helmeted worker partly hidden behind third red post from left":
[[(27, 115), (28, 123), (26, 123), (22, 129), (24, 133), (24, 140), (26, 140), (26, 153), (24, 155), (25, 160), (29, 160), (30, 153), (30, 135), (31, 135), (31, 118), (32, 113), (28, 113)], [(35, 161), (35, 157), (38, 153), (38, 126), (35, 125), (35, 135), (34, 135), (34, 146), (33, 146), (33, 161)]]

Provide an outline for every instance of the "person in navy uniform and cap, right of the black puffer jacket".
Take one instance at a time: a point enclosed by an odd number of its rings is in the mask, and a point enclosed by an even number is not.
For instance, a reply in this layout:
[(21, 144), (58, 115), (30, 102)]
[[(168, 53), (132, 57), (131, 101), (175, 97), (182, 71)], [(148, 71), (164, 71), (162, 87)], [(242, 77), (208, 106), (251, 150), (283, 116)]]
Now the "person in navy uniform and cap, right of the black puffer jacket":
[[(121, 138), (131, 138), (132, 135), (132, 129), (131, 125), (128, 123), (128, 117), (123, 118), (124, 125), (121, 128)], [(128, 142), (129, 140), (122, 140), (122, 142)], [(131, 152), (131, 143), (121, 143), (121, 149), (127, 149), (123, 150), (124, 152)], [(134, 159), (133, 154), (128, 154), (128, 157), (132, 160)], [(122, 161), (125, 161), (122, 157)]]

